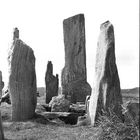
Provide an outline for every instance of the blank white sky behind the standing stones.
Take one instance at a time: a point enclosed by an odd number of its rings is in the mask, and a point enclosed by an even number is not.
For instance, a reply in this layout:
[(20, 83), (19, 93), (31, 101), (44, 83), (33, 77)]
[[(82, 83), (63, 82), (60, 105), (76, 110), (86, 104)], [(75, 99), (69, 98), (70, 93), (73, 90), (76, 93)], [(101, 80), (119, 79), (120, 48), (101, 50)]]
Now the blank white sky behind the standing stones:
[(91, 87), (100, 24), (106, 20), (114, 26), (121, 88), (138, 87), (139, 0), (1, 0), (0, 70), (5, 87), (14, 27), (18, 27), (20, 39), (34, 50), (37, 86), (45, 86), (47, 62), (52, 61), (59, 78), (64, 67), (63, 20), (80, 13), (85, 16), (87, 81)]

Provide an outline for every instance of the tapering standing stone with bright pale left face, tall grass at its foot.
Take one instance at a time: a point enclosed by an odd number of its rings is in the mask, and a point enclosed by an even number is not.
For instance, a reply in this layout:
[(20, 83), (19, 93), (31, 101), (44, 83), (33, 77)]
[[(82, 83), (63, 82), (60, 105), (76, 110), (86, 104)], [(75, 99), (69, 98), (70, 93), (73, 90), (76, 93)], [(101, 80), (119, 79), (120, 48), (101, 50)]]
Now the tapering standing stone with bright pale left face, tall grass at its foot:
[(90, 97), (89, 116), (94, 124), (109, 108), (121, 118), (122, 95), (115, 58), (113, 25), (107, 21), (101, 24), (95, 65), (95, 87)]

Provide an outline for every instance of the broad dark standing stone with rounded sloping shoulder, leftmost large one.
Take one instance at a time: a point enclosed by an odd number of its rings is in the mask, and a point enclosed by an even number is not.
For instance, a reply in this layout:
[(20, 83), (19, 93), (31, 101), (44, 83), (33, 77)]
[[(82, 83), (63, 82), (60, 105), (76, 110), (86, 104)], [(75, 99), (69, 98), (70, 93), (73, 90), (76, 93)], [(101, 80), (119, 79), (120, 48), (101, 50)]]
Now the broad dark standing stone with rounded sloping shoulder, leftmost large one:
[(37, 102), (34, 52), (15, 36), (8, 62), (12, 120), (24, 121), (34, 116)]

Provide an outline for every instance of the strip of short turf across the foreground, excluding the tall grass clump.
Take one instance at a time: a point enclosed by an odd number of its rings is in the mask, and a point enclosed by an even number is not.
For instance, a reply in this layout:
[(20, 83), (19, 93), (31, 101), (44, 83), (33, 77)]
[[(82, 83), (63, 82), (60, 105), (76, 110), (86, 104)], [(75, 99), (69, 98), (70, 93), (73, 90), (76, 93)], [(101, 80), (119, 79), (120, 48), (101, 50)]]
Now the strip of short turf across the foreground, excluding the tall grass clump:
[(4, 121), (3, 127), (7, 140), (93, 140), (97, 134), (97, 128), (50, 123), (40, 117), (27, 122)]

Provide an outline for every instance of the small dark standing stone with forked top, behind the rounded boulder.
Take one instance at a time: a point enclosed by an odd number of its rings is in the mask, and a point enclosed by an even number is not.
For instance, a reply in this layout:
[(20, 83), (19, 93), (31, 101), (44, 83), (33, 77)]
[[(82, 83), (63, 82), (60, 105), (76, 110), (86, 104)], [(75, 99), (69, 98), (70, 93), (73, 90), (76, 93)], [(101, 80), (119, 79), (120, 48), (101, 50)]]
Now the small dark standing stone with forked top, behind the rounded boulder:
[(58, 85), (59, 85), (58, 74), (56, 74), (56, 76), (53, 75), (53, 64), (51, 61), (48, 61), (47, 64), (45, 83), (46, 83), (46, 103), (48, 104), (53, 96), (58, 95)]

